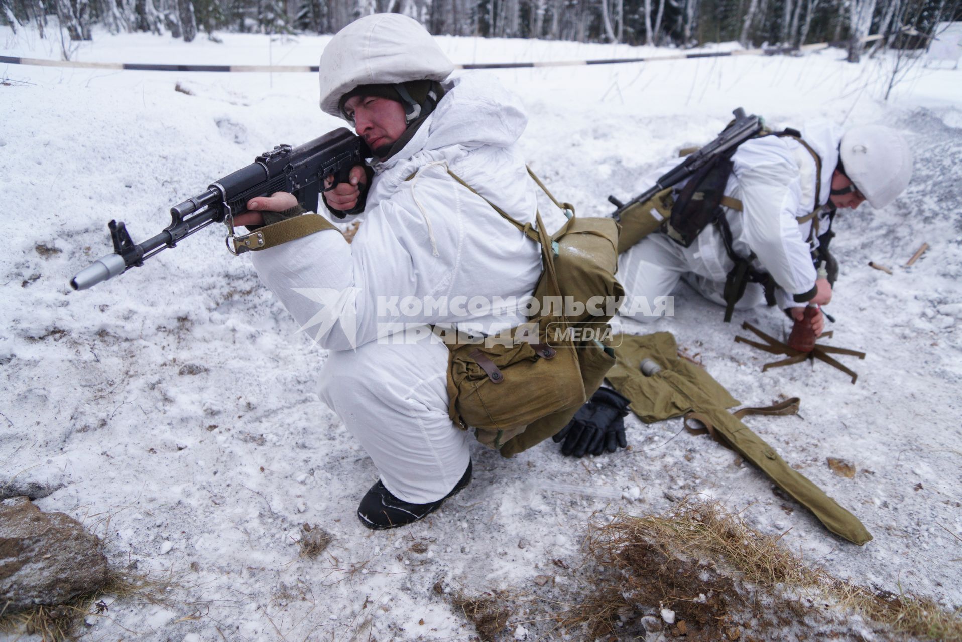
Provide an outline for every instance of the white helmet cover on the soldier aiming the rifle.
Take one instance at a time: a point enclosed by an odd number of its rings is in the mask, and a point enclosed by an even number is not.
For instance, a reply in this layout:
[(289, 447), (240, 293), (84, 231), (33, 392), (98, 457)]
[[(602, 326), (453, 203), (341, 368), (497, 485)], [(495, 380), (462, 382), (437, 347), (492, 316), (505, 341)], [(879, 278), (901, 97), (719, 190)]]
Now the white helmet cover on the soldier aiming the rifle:
[(417, 20), (373, 13), (339, 31), (320, 54), (320, 109), (343, 117), (342, 96), (361, 85), (443, 81), (454, 64)]

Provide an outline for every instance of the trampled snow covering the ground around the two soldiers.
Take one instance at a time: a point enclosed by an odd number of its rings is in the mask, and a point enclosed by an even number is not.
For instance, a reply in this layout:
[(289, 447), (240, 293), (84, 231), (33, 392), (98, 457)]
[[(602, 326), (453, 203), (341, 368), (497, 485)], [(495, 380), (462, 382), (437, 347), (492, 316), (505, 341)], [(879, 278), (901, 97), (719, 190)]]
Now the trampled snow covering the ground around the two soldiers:
[[(328, 39), (218, 36), (97, 33), (74, 59), (316, 64)], [(440, 41), (454, 62), (673, 53)], [(59, 46), (0, 28), (4, 55), (56, 59)], [(843, 60), (827, 50), (488, 73), (523, 97), (525, 153), (582, 215), (609, 213), (609, 193), (634, 192), (644, 171), (715, 136), (739, 106), (775, 125), (882, 122), (909, 136), (907, 192), (836, 223), (842, 276), (828, 342), (868, 351), (842, 358), (857, 384), (822, 363), (762, 374), (771, 359), (732, 339), (744, 320), (787, 331), (770, 309), (724, 324), (721, 309), (681, 291), (675, 318), (624, 323), (671, 330), (744, 404), (800, 397), (800, 417), (748, 423), (862, 519), (874, 536), (862, 548), (792, 510), (759, 472), (680, 420), (634, 417), (633, 450), (613, 456), (563, 458), (548, 442), (505, 460), (475, 447), (474, 481), (443, 510), (367, 531), (355, 508), (377, 473), (318, 401), (326, 356), (219, 230), (89, 291), (67, 285), (110, 251), (110, 219), (135, 240), (156, 234), (172, 204), (215, 178), (275, 144), (341, 127), (317, 108), (316, 75), (0, 66), (0, 485), (85, 520), (120, 566), (184, 573), (190, 599), (204, 603), (195, 613), (116, 602), (90, 620), (89, 639), (469, 639), (475, 631), (432, 591), (436, 581), (535, 590), (532, 580), (550, 575), (555, 590), (573, 588), (552, 560), (577, 564), (595, 511), (661, 512), (693, 492), (744, 508), (761, 531), (788, 531), (787, 546), (841, 577), (962, 605), (962, 71), (920, 64), (883, 103), (890, 60)], [(922, 259), (903, 267), (923, 242)], [(826, 457), (851, 462), (854, 478), (834, 475)], [(297, 556), (305, 522), (336, 538), (316, 560)], [(526, 622), (536, 617), (519, 610), (512, 622), (533, 639), (551, 626)]]

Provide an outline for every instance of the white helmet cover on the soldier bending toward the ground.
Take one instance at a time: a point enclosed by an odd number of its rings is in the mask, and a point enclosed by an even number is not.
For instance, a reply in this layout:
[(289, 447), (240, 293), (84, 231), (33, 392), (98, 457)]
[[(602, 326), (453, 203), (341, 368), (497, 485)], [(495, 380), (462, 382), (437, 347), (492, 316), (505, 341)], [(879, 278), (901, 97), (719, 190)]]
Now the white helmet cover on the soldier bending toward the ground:
[(853, 127), (839, 149), (845, 173), (875, 209), (884, 208), (912, 178), (912, 152), (904, 136), (882, 125)]

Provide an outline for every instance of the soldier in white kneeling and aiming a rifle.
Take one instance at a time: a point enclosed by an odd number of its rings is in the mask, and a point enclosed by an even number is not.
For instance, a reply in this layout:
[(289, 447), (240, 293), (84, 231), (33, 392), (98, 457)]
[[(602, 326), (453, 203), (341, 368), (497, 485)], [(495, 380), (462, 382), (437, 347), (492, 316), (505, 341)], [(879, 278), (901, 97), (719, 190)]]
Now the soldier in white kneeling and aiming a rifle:
[[(448, 348), (430, 328), (469, 321), (489, 334), (524, 321), (519, 309), (405, 314), (396, 302), (522, 299), (542, 274), (538, 245), (484, 200), (535, 221), (535, 185), (516, 144), (524, 111), (494, 78), (450, 78), (452, 70), (409, 17), (379, 13), (342, 29), (320, 59), (320, 106), (350, 122), (374, 158), (325, 202), (364, 224), (351, 244), (332, 226), (251, 253), (261, 279), (330, 351), (321, 397), (380, 474), (358, 508), (370, 529), (421, 519), (471, 478), (468, 432), (448, 413)], [(303, 211), (288, 193), (247, 207), (240, 224)], [(408, 326), (399, 340), (390, 335), (398, 322)]]

